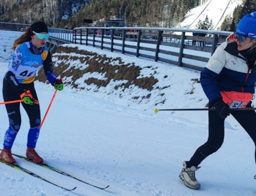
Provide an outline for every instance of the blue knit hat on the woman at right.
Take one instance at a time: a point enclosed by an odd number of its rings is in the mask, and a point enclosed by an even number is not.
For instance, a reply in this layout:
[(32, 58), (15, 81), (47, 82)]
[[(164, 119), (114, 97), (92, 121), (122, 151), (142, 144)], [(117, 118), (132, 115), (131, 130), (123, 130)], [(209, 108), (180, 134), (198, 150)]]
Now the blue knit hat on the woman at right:
[(239, 21), (236, 33), (256, 39), (256, 12), (245, 15)]

